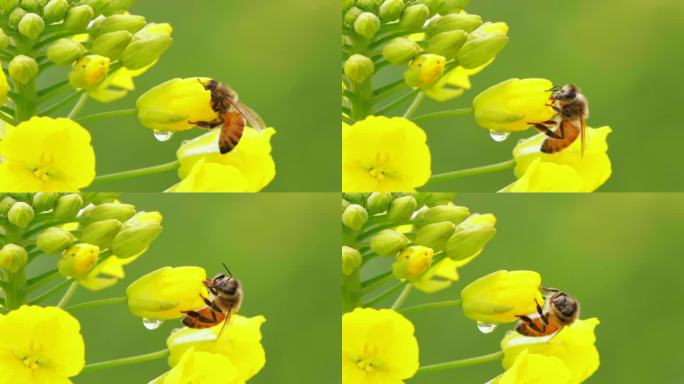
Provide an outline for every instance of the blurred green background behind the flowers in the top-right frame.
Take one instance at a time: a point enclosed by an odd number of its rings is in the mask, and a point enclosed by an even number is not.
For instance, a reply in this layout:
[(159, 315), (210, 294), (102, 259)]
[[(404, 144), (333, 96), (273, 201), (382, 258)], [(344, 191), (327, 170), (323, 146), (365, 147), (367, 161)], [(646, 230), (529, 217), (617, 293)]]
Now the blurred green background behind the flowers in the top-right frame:
[[(684, 172), (678, 167), (684, 142), (678, 105), (684, 87), (684, 2), (472, 0), (467, 10), (507, 22), (510, 42), (471, 79), (471, 91), (446, 103), (426, 102), (417, 114), (470, 107), (478, 93), (513, 77), (574, 83), (589, 99), (589, 124), (613, 128), (608, 140), (613, 175), (601, 191), (684, 190)], [(519, 139), (536, 133), (529, 130), (497, 143), (469, 116), (421, 126), (435, 174), (508, 160)], [(493, 192), (513, 180), (512, 171), (502, 171), (429, 189)]]

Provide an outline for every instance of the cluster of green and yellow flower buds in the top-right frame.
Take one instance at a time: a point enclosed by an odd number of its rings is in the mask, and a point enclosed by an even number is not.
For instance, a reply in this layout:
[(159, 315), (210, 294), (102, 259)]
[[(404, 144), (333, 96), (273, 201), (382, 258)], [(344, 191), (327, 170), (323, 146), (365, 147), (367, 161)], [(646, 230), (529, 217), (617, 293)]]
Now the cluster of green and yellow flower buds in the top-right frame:
[(466, 13), (468, 0), (347, 0), (342, 22), (349, 56), (344, 74), (357, 84), (385, 65), (407, 66), (405, 83), (427, 89), (445, 71), (480, 67), (508, 43), (505, 23)]

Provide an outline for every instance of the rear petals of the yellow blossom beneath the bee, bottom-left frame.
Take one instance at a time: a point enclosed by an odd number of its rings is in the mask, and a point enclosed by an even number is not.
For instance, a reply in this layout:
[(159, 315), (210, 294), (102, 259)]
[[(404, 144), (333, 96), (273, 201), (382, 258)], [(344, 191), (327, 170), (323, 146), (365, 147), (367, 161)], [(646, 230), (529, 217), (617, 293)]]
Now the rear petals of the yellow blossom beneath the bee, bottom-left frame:
[(227, 357), (237, 370), (238, 382), (244, 383), (266, 364), (266, 352), (261, 345), (263, 316), (244, 317), (234, 314), (221, 332), (223, 324), (212, 328), (183, 328), (166, 340), (171, 355), (169, 364), (176, 366), (186, 350), (194, 348)]

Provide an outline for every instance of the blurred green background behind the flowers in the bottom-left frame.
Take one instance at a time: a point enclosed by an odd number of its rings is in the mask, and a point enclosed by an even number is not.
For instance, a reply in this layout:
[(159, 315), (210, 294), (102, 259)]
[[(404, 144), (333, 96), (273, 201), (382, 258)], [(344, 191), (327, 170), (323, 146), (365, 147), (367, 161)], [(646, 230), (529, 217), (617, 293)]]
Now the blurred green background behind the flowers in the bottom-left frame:
[[(126, 267), (125, 280), (100, 293), (79, 289), (70, 303), (122, 296), (133, 280), (163, 266), (196, 265), (213, 277), (225, 262), (244, 287), (240, 314), (266, 317), (266, 366), (250, 383), (339, 379), (339, 269), (326, 256), (339, 253), (339, 195), (123, 194), (121, 200), (162, 212), (164, 231)], [(40, 261), (49, 267), (38, 267), (54, 268), (54, 260)], [(164, 349), (169, 332), (181, 326), (180, 320), (168, 321), (149, 331), (123, 304), (74, 315), (81, 321), (88, 363)], [(147, 383), (168, 369), (160, 360), (74, 381)]]

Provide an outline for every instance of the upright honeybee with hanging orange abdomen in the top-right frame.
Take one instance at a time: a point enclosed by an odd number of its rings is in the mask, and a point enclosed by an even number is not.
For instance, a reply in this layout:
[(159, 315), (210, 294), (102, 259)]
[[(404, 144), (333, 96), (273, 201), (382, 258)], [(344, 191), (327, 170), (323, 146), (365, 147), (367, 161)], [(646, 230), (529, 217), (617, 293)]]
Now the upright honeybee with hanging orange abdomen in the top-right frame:
[[(550, 106), (556, 111), (552, 120), (541, 123), (529, 123), (547, 137), (542, 143), (541, 151), (556, 153), (567, 147), (580, 137), (582, 156), (586, 146), (586, 126), (589, 117), (589, 102), (580, 89), (572, 84), (562, 87), (554, 86), (549, 98)], [(551, 129), (555, 127), (554, 129)]]

